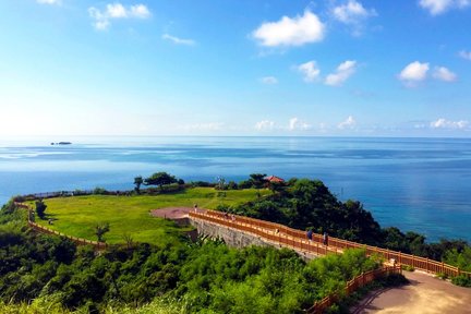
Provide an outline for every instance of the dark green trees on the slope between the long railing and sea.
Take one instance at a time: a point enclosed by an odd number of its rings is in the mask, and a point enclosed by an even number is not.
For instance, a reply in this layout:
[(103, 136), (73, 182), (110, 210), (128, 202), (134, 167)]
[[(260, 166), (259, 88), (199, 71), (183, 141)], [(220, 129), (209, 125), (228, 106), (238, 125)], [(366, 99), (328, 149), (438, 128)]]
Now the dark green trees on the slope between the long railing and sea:
[[(255, 186), (259, 176), (251, 176)], [(241, 185), (241, 184), (240, 184)], [(427, 243), (425, 237), (398, 228), (381, 228), (372, 214), (358, 201), (340, 202), (322, 181), (291, 179), (277, 193), (238, 206), (220, 206), (220, 210), (274, 221), (295, 229), (313, 229), (318, 233), (354, 242), (411, 253), (469, 269), (471, 246), (462, 240), (443, 239)], [(451, 257), (452, 256), (452, 257)]]

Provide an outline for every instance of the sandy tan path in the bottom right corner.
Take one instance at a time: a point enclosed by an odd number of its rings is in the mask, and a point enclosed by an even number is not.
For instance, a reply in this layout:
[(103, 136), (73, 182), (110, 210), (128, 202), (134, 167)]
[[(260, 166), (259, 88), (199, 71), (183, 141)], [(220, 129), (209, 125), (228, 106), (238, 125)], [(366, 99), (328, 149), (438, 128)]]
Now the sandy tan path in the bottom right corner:
[(403, 271), (410, 285), (374, 291), (351, 313), (470, 314), (471, 289), (451, 285), (419, 271)]

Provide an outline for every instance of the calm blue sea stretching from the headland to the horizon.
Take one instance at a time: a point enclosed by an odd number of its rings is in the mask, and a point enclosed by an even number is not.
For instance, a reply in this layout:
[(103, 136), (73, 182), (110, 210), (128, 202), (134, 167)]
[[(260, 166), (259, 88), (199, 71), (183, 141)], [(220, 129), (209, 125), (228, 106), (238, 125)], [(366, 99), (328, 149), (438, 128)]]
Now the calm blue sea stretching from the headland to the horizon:
[[(72, 145), (50, 145), (70, 141)], [(383, 227), (428, 241), (471, 241), (471, 138), (0, 138), (0, 203), (34, 192), (131, 190), (136, 176), (245, 180), (262, 172), (319, 179)]]

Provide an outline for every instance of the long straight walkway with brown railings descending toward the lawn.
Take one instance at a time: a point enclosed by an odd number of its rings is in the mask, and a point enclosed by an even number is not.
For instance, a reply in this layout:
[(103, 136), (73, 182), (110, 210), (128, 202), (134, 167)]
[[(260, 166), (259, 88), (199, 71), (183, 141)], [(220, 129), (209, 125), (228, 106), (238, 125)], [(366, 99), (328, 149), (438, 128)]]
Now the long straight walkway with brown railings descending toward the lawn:
[[(334, 237), (329, 237), (328, 245), (323, 245), (322, 234), (314, 233), (313, 240), (307, 241), (304, 231), (244, 216), (227, 215), (225, 213), (215, 210), (198, 210), (197, 213), (191, 212), (190, 217), (232, 227), (241, 231), (251, 232), (279, 245), (290, 246), (317, 255), (327, 254), (329, 252), (341, 253), (346, 249), (364, 249), (369, 255), (377, 254), (386, 258), (386, 261), (394, 258), (399, 265), (409, 265), (427, 273), (440, 273), (446, 274), (447, 276), (466, 275), (471, 277), (471, 271), (463, 271), (459, 269), (459, 267), (451, 266), (443, 262), (437, 262), (411, 254), (403, 254), (401, 252), (390, 251), (377, 246), (360, 244)], [(232, 219), (232, 217), (234, 219)], [(277, 230), (278, 232), (276, 232)]]

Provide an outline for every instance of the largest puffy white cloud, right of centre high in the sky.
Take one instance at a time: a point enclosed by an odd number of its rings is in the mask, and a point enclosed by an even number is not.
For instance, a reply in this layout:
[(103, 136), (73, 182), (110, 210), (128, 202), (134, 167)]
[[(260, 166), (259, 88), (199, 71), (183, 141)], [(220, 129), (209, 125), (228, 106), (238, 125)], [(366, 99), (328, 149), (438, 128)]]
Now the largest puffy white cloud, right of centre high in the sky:
[(263, 23), (252, 33), (262, 46), (302, 46), (324, 39), (325, 25), (316, 14), (304, 11), (303, 16), (282, 16), (278, 22)]

